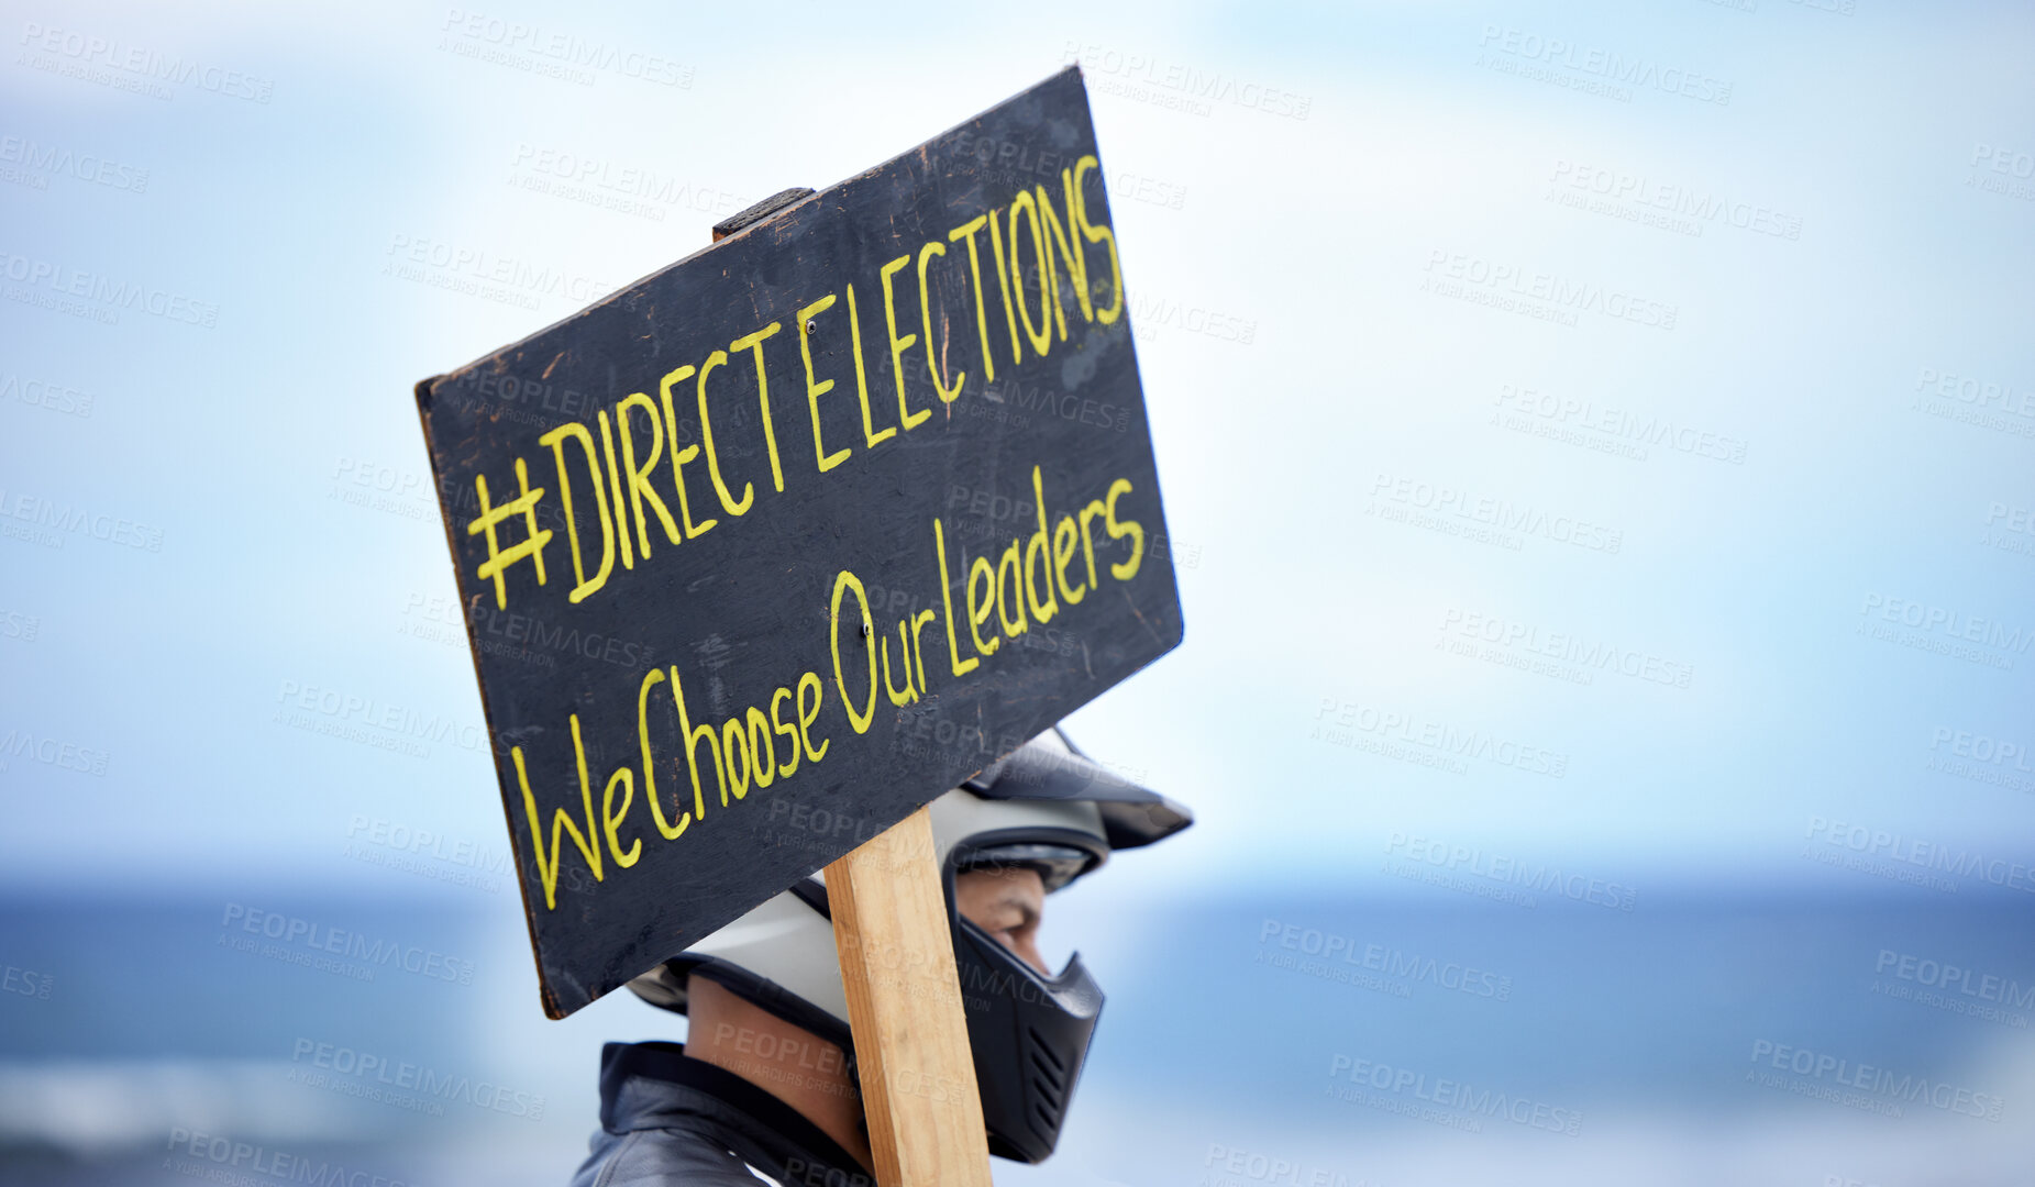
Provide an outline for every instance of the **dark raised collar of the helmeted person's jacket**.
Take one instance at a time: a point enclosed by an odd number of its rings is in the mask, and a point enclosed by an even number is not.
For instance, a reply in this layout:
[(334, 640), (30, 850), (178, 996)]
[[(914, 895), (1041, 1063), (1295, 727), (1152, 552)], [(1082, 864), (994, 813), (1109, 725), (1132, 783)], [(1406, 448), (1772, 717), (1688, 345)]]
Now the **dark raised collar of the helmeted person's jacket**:
[[(633, 1091), (633, 1079), (661, 1091)], [(786, 1187), (875, 1187), (853, 1154), (798, 1110), (735, 1075), (686, 1055), (678, 1042), (608, 1042), (600, 1049), (600, 1126), (710, 1134)]]

